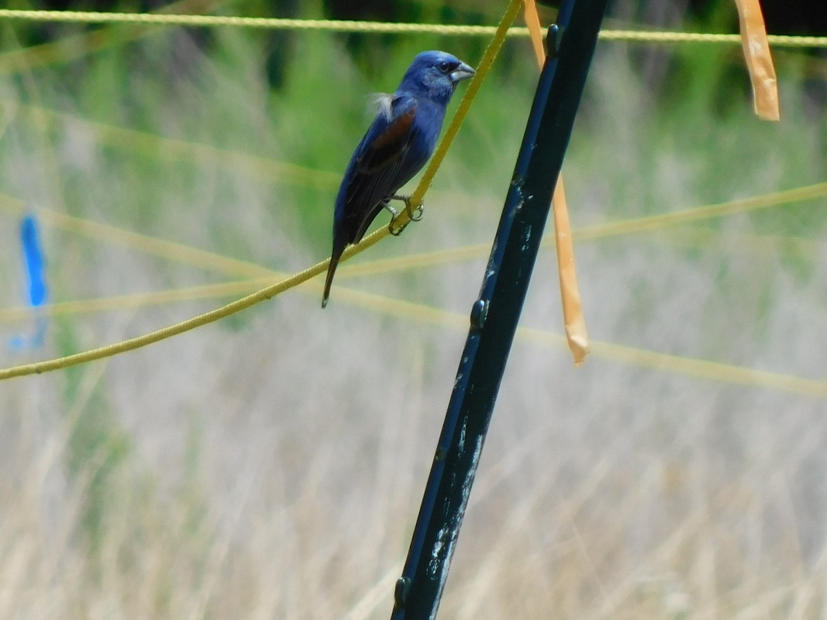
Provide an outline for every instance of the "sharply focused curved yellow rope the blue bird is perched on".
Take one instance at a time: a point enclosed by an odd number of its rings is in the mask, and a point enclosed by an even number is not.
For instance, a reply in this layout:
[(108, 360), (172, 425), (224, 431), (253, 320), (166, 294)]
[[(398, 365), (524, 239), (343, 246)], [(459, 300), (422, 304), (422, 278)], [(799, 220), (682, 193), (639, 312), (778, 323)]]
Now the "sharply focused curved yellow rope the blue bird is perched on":
[[(423, 178), (419, 181), (417, 188), (414, 190), (412, 198), (412, 202), (415, 200), (414, 204), (419, 204), (422, 202), (423, 195), (428, 190), (428, 187), (433, 179), (433, 175), (436, 174), (437, 168), (442, 163), (442, 159), (447, 153), (448, 147), (451, 145), (454, 136), (457, 135), (457, 131), (459, 131), (463, 117), (465, 117), (466, 112), (468, 112), (471, 107), (471, 101), (474, 98), (474, 95), (476, 95), (477, 91), (480, 89), (480, 84), (482, 83), (482, 80), (485, 79), (485, 74), (490, 69), (491, 64), (494, 63), (494, 59), (502, 47), (505, 36), (509, 30), (509, 26), (511, 25), (511, 22), (514, 21), (514, 17), (517, 16), (519, 7), (520, 0), (511, 0), (509, 3), (509, 7), (506, 9), (502, 21), (500, 21), (500, 26), (497, 27), (495, 37), (488, 45), (488, 49), (485, 50), (485, 54), (480, 61), (480, 66), (477, 68), (476, 74), (471, 79), (471, 83), (466, 89), (466, 95), (462, 98), (462, 101), (457, 108), (457, 113), (452, 118), (452, 122), (450, 126), (448, 126), (445, 136), (442, 138), (439, 146), (437, 146), (437, 150), (433, 154), (431, 163), (428, 165), (428, 169), (426, 169), (425, 174), (423, 174)], [(2, 17), (2, 14), (0, 14), (0, 17)], [(357, 246), (348, 247), (342, 255), (342, 260), (347, 260), (350, 256), (366, 250), (387, 235), (387, 227), (380, 228), (380, 230), (375, 231), (372, 235), (363, 239)], [(162, 341), (172, 336), (177, 336), (178, 334), (184, 333), (184, 331), (189, 331), (196, 327), (207, 325), (208, 323), (228, 317), (235, 312), (240, 312), (241, 310), (250, 308), (256, 303), (265, 301), (265, 299), (270, 299), (279, 293), (283, 293), (287, 289), (298, 286), (306, 280), (313, 278), (313, 276), (326, 271), (328, 263), (329, 259), (323, 260), (308, 269), (304, 269), (304, 271), (300, 271), (298, 274), (294, 274), (289, 278), (281, 280), (277, 284), (268, 286), (265, 289), (261, 289), (260, 291), (247, 295), (244, 298), (237, 299), (232, 303), (228, 303), (226, 306), (216, 308), (210, 312), (205, 312), (204, 314), (198, 315), (198, 317), (192, 317), (186, 321), (178, 322), (168, 327), (163, 327), (160, 330), (152, 331), (151, 333), (144, 334), (143, 336), (136, 336), (135, 338), (116, 342), (112, 345), (101, 346), (97, 349), (76, 353), (74, 355), (66, 355), (65, 357), (55, 358), (54, 360), (45, 360), (35, 362), (33, 364), (24, 364), (0, 370), (0, 380), (12, 379), (12, 377), (20, 377), (26, 374), (41, 374), (50, 370), (60, 370), (68, 366), (84, 364), (85, 362), (93, 360), (101, 360), (105, 357), (125, 353), (126, 351), (134, 351), (142, 346), (151, 345), (154, 342)]]

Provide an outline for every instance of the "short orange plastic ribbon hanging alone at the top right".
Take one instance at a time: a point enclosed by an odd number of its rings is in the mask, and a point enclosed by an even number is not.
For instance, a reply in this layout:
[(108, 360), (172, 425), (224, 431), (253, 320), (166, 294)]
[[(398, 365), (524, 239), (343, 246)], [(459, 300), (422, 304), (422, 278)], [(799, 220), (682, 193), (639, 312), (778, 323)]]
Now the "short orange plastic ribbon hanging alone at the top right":
[(753, 107), (765, 121), (778, 121), (778, 83), (772, 65), (767, 29), (758, 0), (735, 0), (741, 22), (741, 45), (753, 84)]

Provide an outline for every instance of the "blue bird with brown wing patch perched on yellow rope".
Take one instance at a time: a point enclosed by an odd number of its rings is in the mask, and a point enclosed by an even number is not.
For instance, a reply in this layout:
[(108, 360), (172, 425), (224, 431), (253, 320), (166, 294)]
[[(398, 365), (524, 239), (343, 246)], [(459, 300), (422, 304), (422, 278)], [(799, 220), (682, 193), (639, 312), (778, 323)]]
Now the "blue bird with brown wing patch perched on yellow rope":
[(377, 97), (376, 116), (356, 146), (337, 193), (322, 308), (345, 248), (361, 241), (382, 209), (393, 218), (398, 215), (390, 200), (404, 201), (411, 215), (409, 197), (396, 192), (430, 159), (457, 83), (473, 74), (474, 69), (454, 55), (424, 51), (414, 58), (394, 93)]

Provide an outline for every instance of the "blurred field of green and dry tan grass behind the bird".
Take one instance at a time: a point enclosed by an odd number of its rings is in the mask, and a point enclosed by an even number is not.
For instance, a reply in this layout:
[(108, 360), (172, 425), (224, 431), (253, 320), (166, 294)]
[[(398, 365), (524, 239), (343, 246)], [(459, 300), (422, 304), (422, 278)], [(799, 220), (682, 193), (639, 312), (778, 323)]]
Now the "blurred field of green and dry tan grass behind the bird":
[[(367, 95), (419, 50), (475, 64), (485, 45), (377, 37), (383, 59), (365, 66), (341, 37), (297, 34), (271, 88), (266, 33), (111, 31), (117, 44), (41, 63), (21, 52), (24, 26), (0, 24), (0, 308), (25, 299), (24, 210), (41, 220), (53, 302), (322, 260)], [(782, 122), (767, 123), (738, 47), (658, 48), (657, 81), (647, 50), (599, 45), (564, 167), (576, 229), (827, 181), (824, 60), (777, 53)], [(390, 615), (487, 252), (382, 261), (490, 244), (536, 75), (528, 41), (509, 41), (423, 221), (343, 264), (326, 310), (316, 279), (141, 351), (0, 384), (0, 617)], [(543, 250), (441, 617), (823, 615), (825, 207), (822, 193), (576, 240), (595, 340), (579, 369)], [(349, 274), (368, 263), (379, 272)], [(236, 294), (61, 313), (2, 365)]]

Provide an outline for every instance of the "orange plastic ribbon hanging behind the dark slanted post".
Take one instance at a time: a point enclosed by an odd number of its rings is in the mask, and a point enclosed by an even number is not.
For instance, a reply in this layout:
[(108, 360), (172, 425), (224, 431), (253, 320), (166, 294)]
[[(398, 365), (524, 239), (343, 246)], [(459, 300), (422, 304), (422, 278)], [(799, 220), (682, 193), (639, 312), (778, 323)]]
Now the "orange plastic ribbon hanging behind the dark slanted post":
[[(525, 23), (534, 54), (540, 68), (546, 61), (546, 51), (543, 48), (543, 33), (540, 31), (540, 17), (534, 0), (523, 0), (525, 5)], [(586, 333), (586, 319), (583, 317), (583, 306), (580, 299), (580, 288), (577, 286), (577, 269), (574, 262), (574, 243), (571, 241), (571, 223), (566, 206), (566, 193), (563, 189), (563, 175), (557, 179), (554, 188), (554, 235), (557, 241), (557, 269), (560, 273), (560, 296), (563, 304), (563, 324), (566, 327), (568, 341), (574, 363), (579, 366), (586, 360), (589, 353), (589, 335)]]

